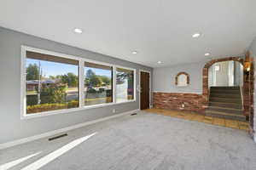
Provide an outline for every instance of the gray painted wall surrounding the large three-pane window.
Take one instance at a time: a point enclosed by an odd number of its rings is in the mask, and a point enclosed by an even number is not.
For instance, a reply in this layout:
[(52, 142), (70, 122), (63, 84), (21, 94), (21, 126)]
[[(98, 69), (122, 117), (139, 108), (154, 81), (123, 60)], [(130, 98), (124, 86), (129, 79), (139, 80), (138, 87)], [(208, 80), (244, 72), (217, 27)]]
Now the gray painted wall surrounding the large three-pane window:
[(116, 109), (114, 114), (119, 114), (139, 108), (139, 94), (137, 92), (137, 101), (132, 103), (20, 120), (20, 45), (136, 68), (137, 85), (139, 82), (139, 69), (152, 71), (151, 68), (143, 65), (0, 27), (0, 144), (81, 122), (96, 120), (104, 116), (112, 116), (113, 109)]

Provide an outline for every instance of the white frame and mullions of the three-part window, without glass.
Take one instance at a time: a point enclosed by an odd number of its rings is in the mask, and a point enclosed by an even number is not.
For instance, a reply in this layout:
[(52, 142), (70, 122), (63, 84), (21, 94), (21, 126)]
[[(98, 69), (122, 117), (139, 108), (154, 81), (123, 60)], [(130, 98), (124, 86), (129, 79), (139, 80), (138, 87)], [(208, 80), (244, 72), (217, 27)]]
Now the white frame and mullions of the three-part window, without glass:
[[(41, 54), (49, 54), (49, 55), (54, 55), (56, 57), (61, 57), (61, 58), (67, 58), (67, 59), (75, 59), (79, 61), (79, 107), (78, 108), (72, 108), (72, 109), (62, 109), (62, 110), (56, 110), (56, 111), (43, 111), (43, 112), (38, 112), (38, 113), (33, 113), (33, 114), (26, 114), (26, 51), (31, 51), (35, 53), (41, 53)], [(93, 108), (100, 108), (104, 106), (109, 106), (109, 105), (119, 105), (119, 104), (125, 104), (125, 103), (130, 103), (130, 102), (136, 102), (137, 96), (136, 96), (136, 75), (137, 75), (137, 70), (135, 68), (130, 68), (130, 67), (125, 67), (122, 65), (113, 65), (101, 61), (96, 61), (92, 59), (84, 59), (82, 57), (77, 57), (73, 55), (68, 55), (68, 54), (61, 54), (61, 53), (56, 53), (52, 52), (49, 50), (44, 50), (44, 49), (39, 49), (39, 48), (32, 48), (28, 47), (25, 45), (21, 45), (21, 60), (20, 60), (20, 119), (29, 119), (33, 117), (40, 117), (40, 116), (51, 116), (55, 114), (64, 114), (64, 113), (69, 113), (69, 112), (75, 112), (75, 111), (83, 111), (83, 110), (88, 110), (88, 109), (93, 109)], [(106, 66), (111, 66), (113, 67), (113, 102), (112, 103), (106, 103), (106, 104), (96, 104), (96, 105), (84, 105), (84, 62), (90, 62), (90, 63), (95, 63), (98, 65), (106, 65)], [(127, 70), (134, 71), (134, 87), (133, 87), (133, 93), (134, 93), (134, 99), (127, 100), (124, 102), (116, 102), (116, 68), (123, 68)]]

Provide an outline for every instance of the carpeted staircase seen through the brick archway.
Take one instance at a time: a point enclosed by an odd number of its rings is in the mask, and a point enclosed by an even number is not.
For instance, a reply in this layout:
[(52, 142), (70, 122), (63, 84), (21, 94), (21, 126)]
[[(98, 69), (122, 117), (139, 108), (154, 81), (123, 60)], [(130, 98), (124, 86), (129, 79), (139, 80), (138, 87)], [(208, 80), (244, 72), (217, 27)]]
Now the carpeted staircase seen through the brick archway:
[(211, 87), (206, 115), (247, 122), (242, 111), (240, 87)]

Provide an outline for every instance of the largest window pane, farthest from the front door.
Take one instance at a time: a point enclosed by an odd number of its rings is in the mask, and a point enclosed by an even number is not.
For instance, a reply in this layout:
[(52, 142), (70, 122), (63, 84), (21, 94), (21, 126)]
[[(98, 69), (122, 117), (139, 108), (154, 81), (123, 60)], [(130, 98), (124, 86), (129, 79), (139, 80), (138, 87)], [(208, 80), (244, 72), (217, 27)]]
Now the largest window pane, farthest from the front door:
[(26, 114), (79, 107), (79, 61), (26, 51)]

